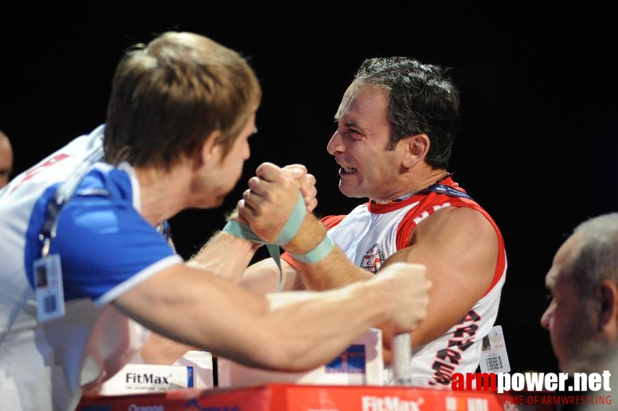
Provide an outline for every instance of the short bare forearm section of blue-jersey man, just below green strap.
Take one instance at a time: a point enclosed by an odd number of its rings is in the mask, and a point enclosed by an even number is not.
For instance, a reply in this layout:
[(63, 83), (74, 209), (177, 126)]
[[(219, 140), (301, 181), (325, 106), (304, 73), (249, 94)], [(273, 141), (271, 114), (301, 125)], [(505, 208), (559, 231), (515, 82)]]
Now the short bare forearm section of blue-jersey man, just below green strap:
[(227, 233), (215, 234), (187, 265), (239, 282), (259, 245)]

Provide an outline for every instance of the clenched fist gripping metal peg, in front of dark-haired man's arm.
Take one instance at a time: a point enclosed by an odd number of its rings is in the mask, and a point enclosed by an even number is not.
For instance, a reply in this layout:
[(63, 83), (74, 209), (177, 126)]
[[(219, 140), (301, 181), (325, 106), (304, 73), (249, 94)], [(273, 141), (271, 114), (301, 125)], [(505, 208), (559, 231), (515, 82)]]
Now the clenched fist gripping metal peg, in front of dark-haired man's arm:
[(383, 267), (372, 282), (381, 282), (385, 298), (392, 301), (395, 332), (412, 331), (427, 316), (431, 281), (422, 264), (395, 262)]

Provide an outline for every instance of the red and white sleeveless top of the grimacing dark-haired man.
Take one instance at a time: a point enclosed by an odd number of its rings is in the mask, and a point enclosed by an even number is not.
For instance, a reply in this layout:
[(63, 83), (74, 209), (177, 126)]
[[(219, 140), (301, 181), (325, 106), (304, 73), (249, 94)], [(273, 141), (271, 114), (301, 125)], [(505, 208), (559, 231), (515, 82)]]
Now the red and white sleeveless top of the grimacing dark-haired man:
[[(441, 184), (463, 191), (450, 177)], [(492, 283), (462, 321), (431, 343), (413, 347), (412, 382), (416, 386), (450, 387), (453, 373), (476, 371), (482, 339), (489, 334), (496, 320), (506, 278), (506, 253), (497, 225), (471, 199), (425, 191), (388, 204), (364, 203), (347, 216), (322, 219), (329, 228), (329, 236), (350, 261), (375, 273), (392, 254), (407, 247), (416, 224), (444, 207), (469, 207), (481, 212), (496, 231), (499, 253)], [(284, 256), (288, 262), (292, 261), (289, 255)]]

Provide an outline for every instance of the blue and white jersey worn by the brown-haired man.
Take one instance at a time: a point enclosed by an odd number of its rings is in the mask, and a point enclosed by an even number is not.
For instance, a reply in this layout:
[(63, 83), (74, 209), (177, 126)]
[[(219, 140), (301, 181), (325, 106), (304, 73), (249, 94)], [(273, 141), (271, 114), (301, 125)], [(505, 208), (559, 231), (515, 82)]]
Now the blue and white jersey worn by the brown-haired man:
[(182, 262), (141, 217), (131, 166), (95, 164), (62, 210), (50, 247), (62, 264), (66, 314), (38, 321), (32, 263), (41, 256), (47, 203), (102, 145), (103, 132), (76, 138), (0, 190), (0, 408), (75, 409), (82, 386), (111, 377), (146, 336), (108, 303)]

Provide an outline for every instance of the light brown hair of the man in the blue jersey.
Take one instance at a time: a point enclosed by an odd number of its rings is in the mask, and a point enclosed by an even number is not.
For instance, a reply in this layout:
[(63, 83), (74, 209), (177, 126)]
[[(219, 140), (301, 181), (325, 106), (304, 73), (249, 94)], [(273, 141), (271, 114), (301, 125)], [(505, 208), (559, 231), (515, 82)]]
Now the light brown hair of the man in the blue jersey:
[(239, 53), (198, 34), (161, 34), (118, 64), (106, 160), (167, 170), (217, 130), (227, 153), (260, 100), (257, 77)]

